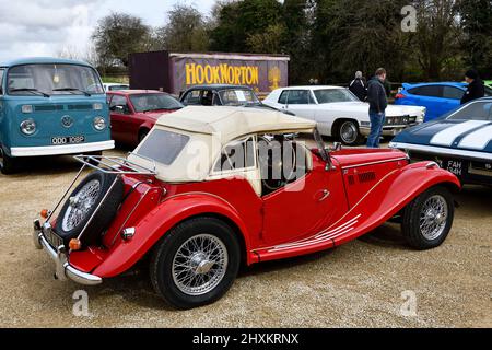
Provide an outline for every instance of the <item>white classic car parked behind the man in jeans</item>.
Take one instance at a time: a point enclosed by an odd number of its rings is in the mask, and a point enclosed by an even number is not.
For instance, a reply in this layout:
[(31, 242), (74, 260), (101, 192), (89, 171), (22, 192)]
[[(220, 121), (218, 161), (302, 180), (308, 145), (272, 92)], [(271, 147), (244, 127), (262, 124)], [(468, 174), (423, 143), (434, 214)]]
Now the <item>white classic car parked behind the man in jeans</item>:
[[(272, 91), (263, 104), (315, 120), (321, 135), (336, 137), (347, 145), (361, 143), (371, 131), (368, 104), (344, 88), (282, 88)], [(425, 112), (425, 107), (388, 105), (383, 136), (396, 136), (410, 126), (421, 124)]]

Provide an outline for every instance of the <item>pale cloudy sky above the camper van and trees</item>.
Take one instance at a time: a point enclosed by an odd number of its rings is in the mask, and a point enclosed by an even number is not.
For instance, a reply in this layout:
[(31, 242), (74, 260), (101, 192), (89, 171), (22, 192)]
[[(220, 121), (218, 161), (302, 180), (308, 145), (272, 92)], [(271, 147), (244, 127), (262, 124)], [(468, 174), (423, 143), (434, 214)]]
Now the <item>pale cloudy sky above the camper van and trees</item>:
[(54, 56), (63, 48), (84, 52), (97, 21), (113, 12), (162, 25), (175, 3), (209, 14), (215, 0), (0, 0), (0, 62)]

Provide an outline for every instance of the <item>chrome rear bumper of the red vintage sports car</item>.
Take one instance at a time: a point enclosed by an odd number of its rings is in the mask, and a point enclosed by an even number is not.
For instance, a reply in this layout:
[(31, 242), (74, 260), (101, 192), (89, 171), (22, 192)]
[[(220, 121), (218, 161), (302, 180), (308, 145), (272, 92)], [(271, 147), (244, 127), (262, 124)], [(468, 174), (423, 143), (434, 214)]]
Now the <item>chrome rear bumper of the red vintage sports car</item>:
[(65, 246), (59, 246), (55, 249), (46, 240), (44, 232), (46, 230), (51, 230), (49, 223), (40, 224), (39, 220), (34, 222), (34, 231), (33, 231), (33, 240), (34, 246), (37, 249), (44, 249), (51, 259), (55, 261), (56, 271), (55, 278), (59, 280), (71, 279), (72, 281), (84, 284), (84, 285), (97, 285), (103, 282), (101, 277), (82, 272), (75, 269), (73, 266), (68, 262), (67, 252)]

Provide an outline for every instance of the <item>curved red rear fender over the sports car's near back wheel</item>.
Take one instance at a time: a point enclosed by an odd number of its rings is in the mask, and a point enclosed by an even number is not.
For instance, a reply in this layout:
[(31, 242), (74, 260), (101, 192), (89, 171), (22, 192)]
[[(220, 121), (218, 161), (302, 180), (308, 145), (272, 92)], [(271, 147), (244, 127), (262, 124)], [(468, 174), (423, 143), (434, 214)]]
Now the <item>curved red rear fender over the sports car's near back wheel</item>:
[[(237, 226), (249, 252), (249, 234), (237, 211), (225, 200), (210, 194), (183, 194), (167, 198), (134, 226), (130, 241), (119, 241), (104, 261), (94, 270), (102, 278), (118, 276), (138, 262), (171, 229), (198, 215), (223, 217)], [(246, 256), (250, 264), (250, 256)]]

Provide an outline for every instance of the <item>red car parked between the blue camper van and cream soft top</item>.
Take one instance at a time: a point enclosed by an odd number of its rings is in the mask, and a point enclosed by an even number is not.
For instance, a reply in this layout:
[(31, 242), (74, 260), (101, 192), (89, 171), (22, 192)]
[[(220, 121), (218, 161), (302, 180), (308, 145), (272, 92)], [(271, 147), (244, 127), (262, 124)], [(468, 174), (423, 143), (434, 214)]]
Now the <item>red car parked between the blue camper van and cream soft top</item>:
[(128, 145), (137, 145), (163, 114), (184, 106), (169, 94), (150, 90), (107, 92), (112, 120), (112, 138)]

